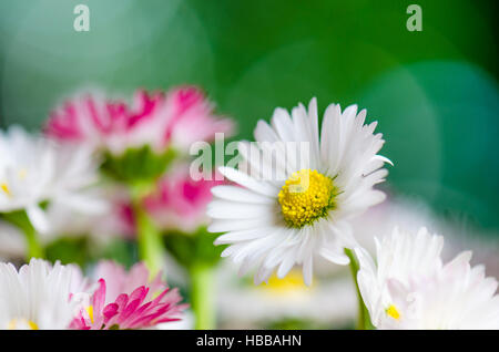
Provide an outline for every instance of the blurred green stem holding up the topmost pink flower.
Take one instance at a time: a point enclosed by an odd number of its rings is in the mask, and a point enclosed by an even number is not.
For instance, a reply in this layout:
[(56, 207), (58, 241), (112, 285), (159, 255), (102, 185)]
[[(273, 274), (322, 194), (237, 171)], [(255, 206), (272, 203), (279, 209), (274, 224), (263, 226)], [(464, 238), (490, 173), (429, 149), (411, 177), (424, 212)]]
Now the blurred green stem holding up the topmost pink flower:
[(131, 187), (132, 206), (135, 216), (139, 257), (145, 262), (151, 277), (163, 269), (163, 242), (161, 234), (143, 206), (143, 198), (150, 186), (135, 184)]

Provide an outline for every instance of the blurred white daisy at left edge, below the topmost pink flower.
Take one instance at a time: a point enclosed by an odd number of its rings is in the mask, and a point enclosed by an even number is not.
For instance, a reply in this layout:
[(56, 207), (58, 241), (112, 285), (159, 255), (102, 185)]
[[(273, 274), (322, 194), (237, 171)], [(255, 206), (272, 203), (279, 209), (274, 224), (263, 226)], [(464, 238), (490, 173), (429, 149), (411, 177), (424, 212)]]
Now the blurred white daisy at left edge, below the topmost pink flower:
[(96, 180), (89, 148), (70, 147), (18, 126), (0, 133), (0, 213), (24, 209), (39, 232), (50, 230), (41, 203), (60, 203), (81, 213), (100, 213), (105, 204), (84, 190)]

